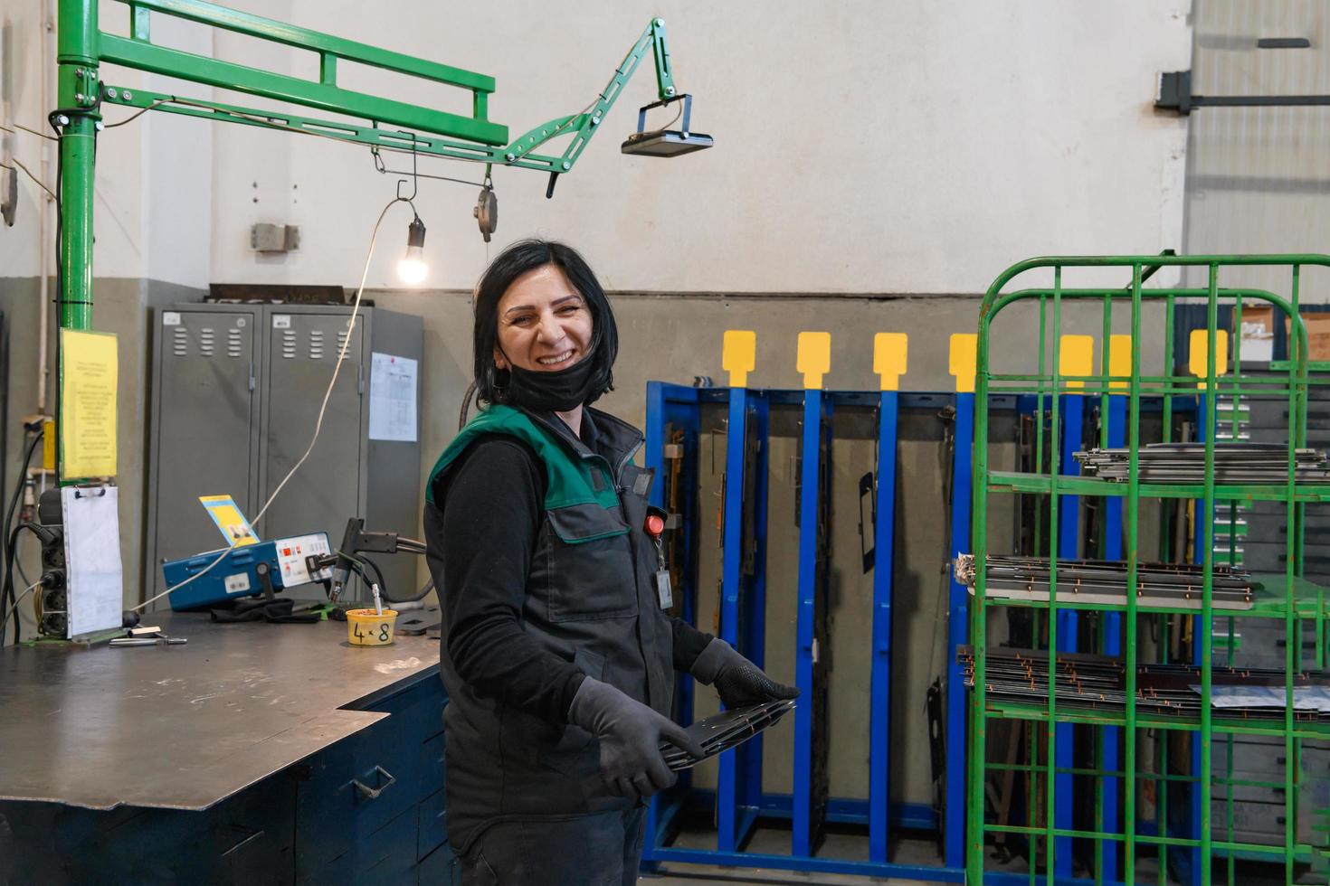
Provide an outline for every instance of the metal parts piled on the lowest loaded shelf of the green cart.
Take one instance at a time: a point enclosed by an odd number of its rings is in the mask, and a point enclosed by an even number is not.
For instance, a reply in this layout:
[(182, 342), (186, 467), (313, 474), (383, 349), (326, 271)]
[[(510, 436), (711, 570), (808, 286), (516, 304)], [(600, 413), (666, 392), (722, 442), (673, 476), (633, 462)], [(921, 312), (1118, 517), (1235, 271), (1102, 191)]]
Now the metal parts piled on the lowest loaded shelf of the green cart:
[[(974, 647), (956, 652), (966, 685), (975, 684)], [(1056, 699), (1059, 709), (1120, 712), (1127, 709), (1127, 679), (1120, 659), (1060, 652)], [(986, 662), (986, 692), (996, 704), (1048, 704), (1048, 652), (1040, 650), (990, 648)], [(1275, 668), (1213, 667), (1212, 707), (1220, 716), (1244, 720), (1282, 720), (1283, 671)], [(1138, 664), (1136, 711), (1146, 715), (1200, 717), (1201, 668), (1190, 664)], [(1294, 719), (1298, 723), (1330, 723), (1330, 675), (1295, 673)]]

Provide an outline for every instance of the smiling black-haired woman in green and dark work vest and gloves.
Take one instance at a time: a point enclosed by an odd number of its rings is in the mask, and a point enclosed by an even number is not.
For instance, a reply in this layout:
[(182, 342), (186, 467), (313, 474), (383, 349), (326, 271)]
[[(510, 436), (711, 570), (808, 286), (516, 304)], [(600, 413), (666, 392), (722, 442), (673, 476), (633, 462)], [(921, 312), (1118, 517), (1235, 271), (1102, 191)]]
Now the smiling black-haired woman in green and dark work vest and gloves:
[(642, 436), (591, 408), (618, 336), (587, 262), (544, 240), (504, 250), (476, 288), (473, 347), (483, 408), (424, 510), (448, 837), (463, 883), (633, 883), (644, 800), (674, 781), (660, 743), (701, 756), (669, 719), (672, 671), (729, 708), (798, 689), (662, 611)]

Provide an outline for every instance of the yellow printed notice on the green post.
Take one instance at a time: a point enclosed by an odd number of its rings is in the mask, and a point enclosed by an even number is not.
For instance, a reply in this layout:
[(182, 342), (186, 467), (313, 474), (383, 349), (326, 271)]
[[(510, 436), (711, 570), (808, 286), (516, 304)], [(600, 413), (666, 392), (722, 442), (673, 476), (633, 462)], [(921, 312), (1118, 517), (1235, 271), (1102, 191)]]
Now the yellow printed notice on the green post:
[(60, 474), (116, 476), (116, 336), (60, 331)]

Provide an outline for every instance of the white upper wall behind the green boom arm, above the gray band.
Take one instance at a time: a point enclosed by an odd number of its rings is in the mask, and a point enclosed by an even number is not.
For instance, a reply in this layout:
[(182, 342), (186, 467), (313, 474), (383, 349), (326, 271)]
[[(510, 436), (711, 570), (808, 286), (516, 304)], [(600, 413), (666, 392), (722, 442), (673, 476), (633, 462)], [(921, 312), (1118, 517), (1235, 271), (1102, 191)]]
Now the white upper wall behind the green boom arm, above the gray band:
[[(612, 288), (975, 292), (1032, 254), (1180, 246), (1185, 121), (1156, 116), (1150, 101), (1160, 70), (1188, 66), (1185, 0), (600, 0), (557, 16), (524, 1), (395, 3), (374, 15), (348, 0), (282, 5), (295, 24), (493, 74), (491, 116), (513, 137), (581, 109), (661, 13), (678, 85), (697, 97), (694, 129), (716, 137), (714, 150), (620, 155), (637, 106), (654, 97), (646, 62), (552, 202), (539, 173), (495, 175), (491, 254), (520, 236), (563, 238)], [(227, 57), (246, 57), (241, 43), (227, 43)], [(363, 70), (346, 82), (408, 100), (454, 92)], [(451, 102), (442, 106), (464, 106), (466, 94)], [(367, 150), (241, 126), (213, 138), (214, 279), (359, 278), (394, 193)], [(475, 191), (422, 182), (432, 286), (469, 287), (484, 267)], [(394, 211), (371, 286), (395, 286), (410, 217)], [(258, 221), (301, 224), (301, 254), (249, 252)]]

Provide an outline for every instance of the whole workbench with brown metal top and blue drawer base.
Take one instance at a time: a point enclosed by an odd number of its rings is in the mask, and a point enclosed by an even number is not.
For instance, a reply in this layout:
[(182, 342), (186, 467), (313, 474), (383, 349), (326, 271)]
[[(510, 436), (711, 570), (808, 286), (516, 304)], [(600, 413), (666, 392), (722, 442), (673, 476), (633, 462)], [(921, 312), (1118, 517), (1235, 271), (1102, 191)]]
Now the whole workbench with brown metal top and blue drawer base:
[(0, 650), (0, 882), (448, 879), (438, 640), (152, 622)]

